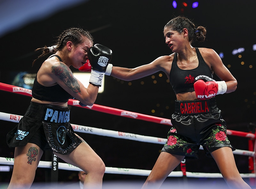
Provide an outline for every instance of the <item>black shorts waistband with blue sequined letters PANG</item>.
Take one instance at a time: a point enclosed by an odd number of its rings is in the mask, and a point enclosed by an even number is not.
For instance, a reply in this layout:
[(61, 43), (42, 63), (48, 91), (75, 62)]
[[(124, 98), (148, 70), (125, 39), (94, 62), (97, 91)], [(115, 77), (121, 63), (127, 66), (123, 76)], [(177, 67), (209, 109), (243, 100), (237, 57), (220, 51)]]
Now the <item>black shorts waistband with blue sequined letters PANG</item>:
[(69, 121), (70, 110), (63, 106), (53, 106), (30, 102), (25, 116), (45, 122), (65, 123)]

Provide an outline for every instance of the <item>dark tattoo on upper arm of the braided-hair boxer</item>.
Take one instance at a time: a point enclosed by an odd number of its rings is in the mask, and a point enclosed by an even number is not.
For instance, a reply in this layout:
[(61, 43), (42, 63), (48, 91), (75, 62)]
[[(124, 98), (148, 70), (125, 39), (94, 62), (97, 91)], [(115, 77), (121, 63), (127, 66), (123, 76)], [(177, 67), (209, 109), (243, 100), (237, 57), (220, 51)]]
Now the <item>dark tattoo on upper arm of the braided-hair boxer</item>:
[(80, 85), (66, 64), (60, 62), (60, 66), (52, 66), (52, 73), (53, 72), (55, 75), (60, 77), (69, 89), (75, 93), (81, 94)]

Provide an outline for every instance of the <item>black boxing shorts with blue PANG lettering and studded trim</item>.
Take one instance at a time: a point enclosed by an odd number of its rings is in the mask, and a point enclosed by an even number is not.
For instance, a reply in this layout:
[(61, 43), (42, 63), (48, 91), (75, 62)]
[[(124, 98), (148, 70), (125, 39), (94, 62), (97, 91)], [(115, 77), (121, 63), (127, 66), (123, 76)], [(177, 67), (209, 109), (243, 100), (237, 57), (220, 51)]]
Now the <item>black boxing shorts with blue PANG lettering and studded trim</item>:
[(82, 142), (69, 123), (69, 114), (68, 107), (30, 102), (19, 124), (7, 134), (8, 146), (33, 143), (42, 150), (69, 154)]

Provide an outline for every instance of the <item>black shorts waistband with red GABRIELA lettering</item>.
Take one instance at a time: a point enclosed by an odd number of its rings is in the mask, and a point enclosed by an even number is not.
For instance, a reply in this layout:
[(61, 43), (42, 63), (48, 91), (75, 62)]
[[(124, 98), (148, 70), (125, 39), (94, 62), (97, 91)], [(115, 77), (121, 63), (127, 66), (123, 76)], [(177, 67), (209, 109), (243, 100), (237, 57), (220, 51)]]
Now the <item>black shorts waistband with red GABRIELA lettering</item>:
[(178, 115), (209, 114), (219, 110), (214, 97), (208, 100), (175, 100), (174, 105)]

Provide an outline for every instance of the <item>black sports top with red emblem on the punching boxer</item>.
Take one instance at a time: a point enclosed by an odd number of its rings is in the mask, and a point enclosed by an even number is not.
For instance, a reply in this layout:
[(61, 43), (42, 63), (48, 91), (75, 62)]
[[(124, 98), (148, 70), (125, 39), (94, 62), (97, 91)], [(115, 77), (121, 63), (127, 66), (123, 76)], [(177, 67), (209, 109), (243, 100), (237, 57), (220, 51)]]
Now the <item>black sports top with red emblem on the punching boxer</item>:
[(183, 92), (195, 91), (194, 83), (195, 78), (198, 75), (206, 75), (208, 77), (213, 77), (211, 69), (205, 63), (201, 53), (198, 48), (196, 48), (196, 55), (198, 58), (198, 66), (191, 70), (180, 69), (177, 65), (178, 54), (174, 54), (172, 61), (172, 68), (170, 71), (170, 83), (175, 94)]

